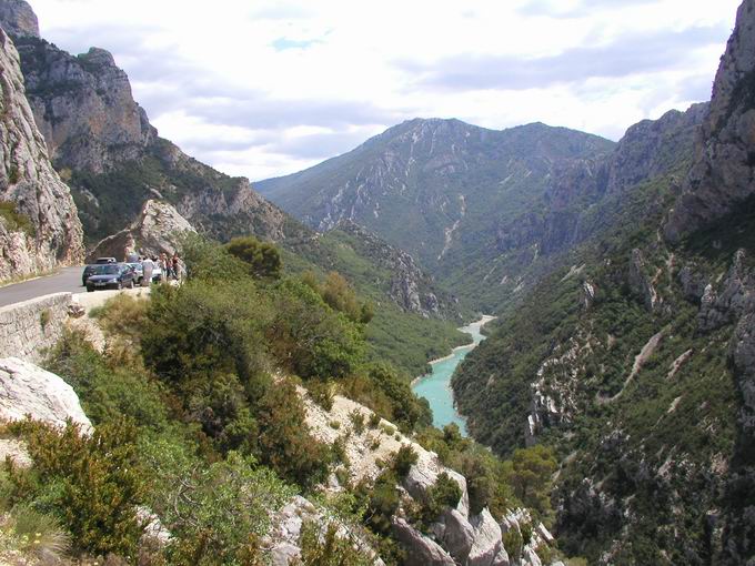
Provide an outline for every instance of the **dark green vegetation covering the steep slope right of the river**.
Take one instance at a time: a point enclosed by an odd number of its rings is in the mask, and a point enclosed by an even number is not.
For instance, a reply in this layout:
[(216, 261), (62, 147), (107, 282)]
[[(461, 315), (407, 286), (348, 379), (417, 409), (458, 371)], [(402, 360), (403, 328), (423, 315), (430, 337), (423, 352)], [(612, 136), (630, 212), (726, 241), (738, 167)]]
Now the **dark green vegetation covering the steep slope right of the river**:
[[(551, 487), (531, 483), (530, 473), (544, 477), (555, 462), (520, 452), (532, 383), (538, 382), (561, 412), (543, 411), (537, 431), (542, 445), (565, 458), (553, 494), (562, 509), (555, 517), (560, 545), (591, 562), (617, 539), (621, 549), (612, 556), (617, 564), (714, 559), (706, 514), (732, 505), (715, 472), (736, 446), (739, 401), (727, 361), (732, 327), (699, 330), (698, 304), (684, 296), (678, 273), (692, 264), (715, 281), (735, 249), (752, 251), (749, 204), (725, 225), (668, 250), (657, 239), (668, 186), (668, 179), (657, 179), (627, 193), (604, 219), (600, 211), (588, 215), (596, 228), (585, 229), (597, 235), (566, 263), (584, 267), (542, 280), (496, 322), (453, 381), (462, 412), (473, 415), (475, 437), (512, 457), (504, 469), (512, 495), (547, 517)], [(603, 223), (608, 228), (598, 226)], [(630, 284), (635, 247), (661, 300), (654, 310)], [(585, 283), (595, 290), (587, 303)], [(633, 375), (637, 354), (657, 333), (660, 343)], [(642, 522), (631, 518), (640, 516)]]

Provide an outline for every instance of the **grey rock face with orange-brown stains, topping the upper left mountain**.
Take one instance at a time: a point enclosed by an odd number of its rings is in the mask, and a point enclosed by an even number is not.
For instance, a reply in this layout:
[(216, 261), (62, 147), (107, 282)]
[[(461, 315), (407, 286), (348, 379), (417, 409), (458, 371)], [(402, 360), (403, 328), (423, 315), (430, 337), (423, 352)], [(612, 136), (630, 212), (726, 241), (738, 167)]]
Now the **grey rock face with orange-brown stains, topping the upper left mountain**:
[(29, 102), (57, 165), (99, 173), (142, 156), (157, 130), (108, 51), (72, 57), (39, 38), (17, 41)]

